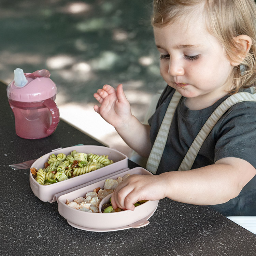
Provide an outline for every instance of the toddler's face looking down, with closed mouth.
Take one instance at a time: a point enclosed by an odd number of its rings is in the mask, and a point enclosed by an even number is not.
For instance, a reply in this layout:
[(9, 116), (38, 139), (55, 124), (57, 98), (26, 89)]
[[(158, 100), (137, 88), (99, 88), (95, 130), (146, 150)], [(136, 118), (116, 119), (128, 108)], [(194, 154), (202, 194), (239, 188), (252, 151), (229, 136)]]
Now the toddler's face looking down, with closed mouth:
[(231, 87), (233, 66), (222, 45), (211, 35), (202, 19), (188, 24), (178, 19), (154, 28), (160, 57), (160, 73), (182, 96), (196, 99), (222, 97)]

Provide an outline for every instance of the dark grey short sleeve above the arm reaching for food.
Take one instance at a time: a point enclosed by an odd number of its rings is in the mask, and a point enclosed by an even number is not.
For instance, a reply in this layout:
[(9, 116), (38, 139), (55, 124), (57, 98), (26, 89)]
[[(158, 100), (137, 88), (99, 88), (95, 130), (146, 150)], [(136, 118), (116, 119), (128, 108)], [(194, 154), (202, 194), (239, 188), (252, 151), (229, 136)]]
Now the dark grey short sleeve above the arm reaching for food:
[(232, 106), (218, 121), (215, 159), (237, 157), (256, 168), (256, 102), (241, 102)]

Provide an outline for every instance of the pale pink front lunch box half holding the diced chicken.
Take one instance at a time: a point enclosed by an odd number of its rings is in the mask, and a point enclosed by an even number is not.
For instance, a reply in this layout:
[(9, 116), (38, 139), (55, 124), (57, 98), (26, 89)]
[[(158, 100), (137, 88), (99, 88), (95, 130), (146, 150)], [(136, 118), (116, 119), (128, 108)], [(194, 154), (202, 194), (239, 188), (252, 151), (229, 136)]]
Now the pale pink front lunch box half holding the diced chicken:
[[(126, 174), (143, 174), (153, 175), (142, 167), (136, 167), (131, 170), (119, 172), (110, 176), (111, 179), (123, 177)], [(155, 212), (159, 200), (147, 201), (137, 206), (133, 211), (126, 210), (115, 213), (91, 213), (84, 212), (69, 207), (66, 202), (70, 202), (79, 197), (85, 197), (87, 192), (92, 192), (95, 188), (101, 187), (103, 189), (105, 179), (102, 179), (93, 184), (71, 191), (58, 197), (58, 211), (61, 216), (67, 219), (68, 223), (79, 229), (88, 231), (114, 231), (126, 228), (139, 228), (147, 225), (147, 221)]]

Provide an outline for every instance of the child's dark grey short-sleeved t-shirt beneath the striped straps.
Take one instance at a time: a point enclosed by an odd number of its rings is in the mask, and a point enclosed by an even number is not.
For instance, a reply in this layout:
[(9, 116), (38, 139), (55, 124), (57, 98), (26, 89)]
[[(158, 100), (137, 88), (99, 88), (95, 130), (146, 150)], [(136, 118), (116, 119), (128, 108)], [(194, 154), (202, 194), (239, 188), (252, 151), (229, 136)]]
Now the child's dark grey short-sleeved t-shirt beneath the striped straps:
[[(251, 92), (250, 89), (244, 91)], [(165, 115), (174, 89), (167, 86), (163, 91), (156, 112), (148, 120), (151, 125), (152, 145)], [(156, 174), (177, 171), (188, 148), (212, 112), (228, 96), (202, 110), (189, 110), (182, 97), (174, 113), (159, 168)], [(232, 106), (217, 122), (203, 143), (191, 169), (214, 164), (224, 157), (246, 160), (256, 168), (256, 102), (241, 102)], [(246, 171), (246, 170), (244, 170)], [(256, 216), (256, 176), (247, 183), (241, 193), (223, 204), (211, 205), (225, 216)]]

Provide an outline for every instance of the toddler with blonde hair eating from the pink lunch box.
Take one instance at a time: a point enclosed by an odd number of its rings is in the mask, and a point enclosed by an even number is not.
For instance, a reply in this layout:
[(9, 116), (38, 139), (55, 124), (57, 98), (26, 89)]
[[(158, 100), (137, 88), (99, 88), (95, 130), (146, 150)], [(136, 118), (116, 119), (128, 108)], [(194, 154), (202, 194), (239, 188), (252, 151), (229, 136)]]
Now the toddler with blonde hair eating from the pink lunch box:
[[(131, 114), (121, 84), (116, 89), (104, 85), (94, 94), (100, 103), (94, 110), (134, 151), (150, 156), (148, 166), (157, 162), (155, 170), (148, 168), (156, 175), (131, 175), (115, 189), (113, 207), (133, 210), (139, 200), (168, 197), (209, 205), (225, 216), (256, 215), (255, 101), (226, 110), (196, 148), (191, 168), (181, 168), (189, 147), (221, 103), (240, 92), (255, 97), (254, 0), (154, 0), (152, 25), (167, 86), (149, 125)], [(152, 146), (173, 99), (177, 106), (167, 134), (159, 135), (164, 139), (159, 157)]]

